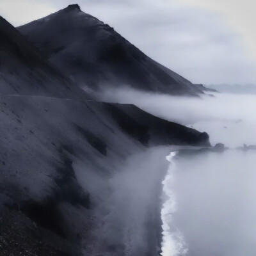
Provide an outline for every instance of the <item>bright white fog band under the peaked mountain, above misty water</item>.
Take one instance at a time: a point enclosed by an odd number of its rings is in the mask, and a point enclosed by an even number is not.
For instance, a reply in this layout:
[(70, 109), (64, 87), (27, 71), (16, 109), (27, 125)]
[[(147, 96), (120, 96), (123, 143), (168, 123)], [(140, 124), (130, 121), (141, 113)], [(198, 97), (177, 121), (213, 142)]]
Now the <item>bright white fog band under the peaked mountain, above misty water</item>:
[[(104, 92), (104, 100), (131, 103), (153, 115), (193, 124), (204, 120), (256, 120), (252, 109), (256, 106), (253, 95), (233, 95), (228, 93), (211, 93), (200, 97), (175, 97), (166, 94), (126, 90), (109, 90)], [(213, 97), (212, 97), (213, 96)]]

